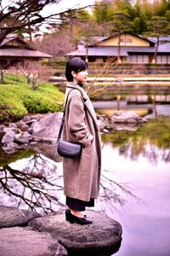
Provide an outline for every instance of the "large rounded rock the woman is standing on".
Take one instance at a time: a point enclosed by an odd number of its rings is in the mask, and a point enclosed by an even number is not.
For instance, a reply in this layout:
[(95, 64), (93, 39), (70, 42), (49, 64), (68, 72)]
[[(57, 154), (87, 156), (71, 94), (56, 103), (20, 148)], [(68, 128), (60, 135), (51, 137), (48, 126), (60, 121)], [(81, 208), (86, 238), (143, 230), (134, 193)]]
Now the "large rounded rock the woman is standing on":
[(108, 248), (116, 248), (122, 239), (121, 224), (99, 212), (89, 211), (88, 218), (93, 220), (93, 224), (82, 226), (66, 222), (64, 213), (55, 213), (47, 217), (36, 218), (29, 225), (34, 230), (48, 232), (67, 251), (99, 252), (108, 250)]

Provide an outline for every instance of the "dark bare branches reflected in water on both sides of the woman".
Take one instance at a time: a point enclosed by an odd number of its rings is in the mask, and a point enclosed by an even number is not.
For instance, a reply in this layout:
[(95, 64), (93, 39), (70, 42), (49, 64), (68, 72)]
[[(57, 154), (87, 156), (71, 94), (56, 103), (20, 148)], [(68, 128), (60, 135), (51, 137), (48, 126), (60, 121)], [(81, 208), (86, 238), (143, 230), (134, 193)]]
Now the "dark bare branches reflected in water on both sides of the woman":
[[(43, 158), (40, 154), (27, 159), (27, 165), (22, 170), (6, 165), (0, 168), (1, 195), (6, 200), (3, 205), (25, 207), (37, 212), (53, 212), (65, 205), (61, 202), (63, 197), (62, 175), (59, 174), (58, 165), (51, 160)], [(16, 162), (20, 166), (20, 162)], [(62, 170), (60, 170), (62, 171)], [(122, 193), (134, 196), (126, 183), (116, 183), (107, 177), (103, 171), (99, 201), (109, 202), (112, 206), (123, 205), (125, 200)], [(10, 198), (8, 203), (6, 202)], [(2, 202), (1, 202), (2, 203)]]

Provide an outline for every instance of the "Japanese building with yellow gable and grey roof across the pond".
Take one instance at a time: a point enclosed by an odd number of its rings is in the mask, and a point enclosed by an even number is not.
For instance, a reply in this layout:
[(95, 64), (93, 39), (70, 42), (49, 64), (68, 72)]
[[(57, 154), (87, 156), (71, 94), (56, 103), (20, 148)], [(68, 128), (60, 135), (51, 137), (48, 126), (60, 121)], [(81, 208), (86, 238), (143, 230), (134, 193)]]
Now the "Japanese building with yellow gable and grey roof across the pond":
[[(157, 50), (156, 63), (170, 64), (170, 36), (161, 37)], [(120, 45), (118, 47), (118, 45)], [(68, 56), (80, 56), (90, 62), (105, 62), (108, 58), (118, 59), (127, 63), (152, 63), (156, 52), (156, 38), (142, 38), (130, 32), (110, 38), (99, 38), (95, 44), (86, 47), (78, 47), (77, 50), (68, 53)]]

